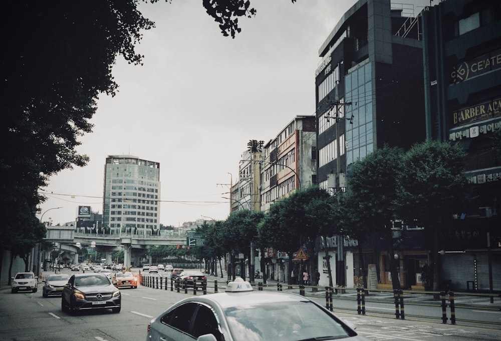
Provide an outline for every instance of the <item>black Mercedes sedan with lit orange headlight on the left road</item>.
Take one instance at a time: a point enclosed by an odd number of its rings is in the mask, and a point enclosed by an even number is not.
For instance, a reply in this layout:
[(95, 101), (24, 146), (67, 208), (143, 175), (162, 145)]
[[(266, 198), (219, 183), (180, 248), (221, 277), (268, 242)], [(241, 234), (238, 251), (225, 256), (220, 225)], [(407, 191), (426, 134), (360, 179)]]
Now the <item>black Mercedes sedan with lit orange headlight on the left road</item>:
[(61, 309), (71, 315), (86, 309), (112, 309), (113, 312), (120, 312), (121, 307), (120, 290), (102, 273), (74, 274), (63, 289)]

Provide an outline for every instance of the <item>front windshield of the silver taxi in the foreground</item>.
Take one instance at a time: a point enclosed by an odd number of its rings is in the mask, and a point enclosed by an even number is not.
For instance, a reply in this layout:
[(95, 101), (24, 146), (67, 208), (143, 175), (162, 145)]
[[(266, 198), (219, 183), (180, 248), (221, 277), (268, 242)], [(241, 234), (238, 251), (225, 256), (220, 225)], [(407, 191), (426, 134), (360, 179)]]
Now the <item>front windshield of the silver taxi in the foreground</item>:
[(224, 311), (235, 341), (299, 341), (355, 336), (334, 315), (309, 301), (249, 304)]

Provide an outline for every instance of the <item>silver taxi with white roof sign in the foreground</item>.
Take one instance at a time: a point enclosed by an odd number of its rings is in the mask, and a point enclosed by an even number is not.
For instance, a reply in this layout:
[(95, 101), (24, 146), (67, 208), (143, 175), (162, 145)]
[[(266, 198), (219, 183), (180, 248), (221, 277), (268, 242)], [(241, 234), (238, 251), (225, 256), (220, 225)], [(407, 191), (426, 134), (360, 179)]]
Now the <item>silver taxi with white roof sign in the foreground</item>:
[(226, 291), (185, 298), (148, 324), (146, 341), (362, 341), (354, 325), (294, 293), (254, 291), (237, 278)]

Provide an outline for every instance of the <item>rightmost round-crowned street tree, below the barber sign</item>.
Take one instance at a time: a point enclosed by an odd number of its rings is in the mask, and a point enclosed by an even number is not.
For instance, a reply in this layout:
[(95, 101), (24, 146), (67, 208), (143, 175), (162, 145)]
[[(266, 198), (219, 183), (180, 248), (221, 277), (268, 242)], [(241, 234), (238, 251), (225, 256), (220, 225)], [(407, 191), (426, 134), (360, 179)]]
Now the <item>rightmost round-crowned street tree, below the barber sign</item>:
[(460, 213), (467, 198), (464, 151), (457, 144), (426, 141), (415, 144), (403, 157), (399, 177), (398, 215), (417, 219), (433, 234), (433, 290), (439, 287), (438, 228)]

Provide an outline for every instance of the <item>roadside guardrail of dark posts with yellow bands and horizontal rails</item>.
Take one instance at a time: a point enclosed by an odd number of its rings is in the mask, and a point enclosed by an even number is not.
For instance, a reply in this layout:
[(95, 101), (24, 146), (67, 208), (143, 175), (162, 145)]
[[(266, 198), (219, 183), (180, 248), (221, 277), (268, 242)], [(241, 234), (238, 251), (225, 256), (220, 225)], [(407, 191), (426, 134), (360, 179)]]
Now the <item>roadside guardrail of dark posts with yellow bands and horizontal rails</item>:
[[(207, 290), (212, 292), (218, 292), (218, 281), (214, 280), (213, 285), (211, 281), (199, 281), (196, 282), (193, 287), (184, 286), (178, 279), (174, 280), (167, 277), (143, 275), (142, 284), (144, 286), (163, 289), (177, 292), (184, 292), (185, 294), (192, 293), (196, 295), (201, 289), (202, 294), (207, 294)], [(328, 310), (346, 310), (353, 311), (359, 315), (394, 315), (397, 319), (405, 318), (418, 318), (418, 319), (431, 319), (437, 320), (442, 323), (447, 323), (450, 321), (451, 324), (456, 324), (458, 322), (469, 322), (469, 323), (480, 323), (480, 324), (490, 324), (495, 326), (501, 326), (501, 322), (489, 322), (480, 321), (474, 319), (461, 319), (457, 318), (456, 311), (458, 309), (482, 309), (499, 311), (501, 310), (501, 294), (485, 294), (485, 293), (466, 293), (466, 292), (435, 292), (435, 291), (411, 291), (411, 290), (368, 290), (364, 288), (345, 288), (345, 287), (320, 287), (320, 286), (307, 286), (307, 285), (290, 285), (277, 282), (276, 284), (264, 284), (263, 282), (252, 283), (256, 286), (258, 290), (277, 290), (292, 291), (299, 293), (303, 296), (313, 297), (313, 298), (323, 298), (325, 297), (325, 307)], [(489, 300), (492, 301), (494, 297), (496, 300), (499, 299), (499, 303), (493, 304), (491, 307), (485, 305), (475, 305), (474, 303), (465, 304), (465, 301), (482, 300), (484, 304)], [(344, 307), (341, 304), (335, 304), (335, 301), (353, 301), (353, 305)], [(366, 303), (385, 303), (389, 306), (393, 306), (393, 311), (379, 311), (368, 309)], [(416, 309), (407, 309), (404, 307), (429, 307), (431, 313), (429, 316), (422, 314), (413, 313)], [(475, 316), (475, 314), (461, 314), (462, 316)]]

